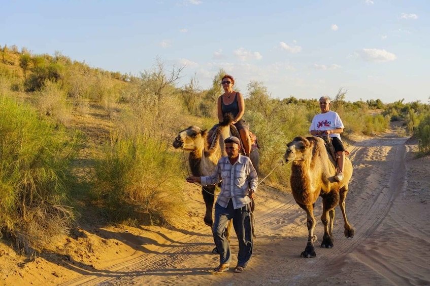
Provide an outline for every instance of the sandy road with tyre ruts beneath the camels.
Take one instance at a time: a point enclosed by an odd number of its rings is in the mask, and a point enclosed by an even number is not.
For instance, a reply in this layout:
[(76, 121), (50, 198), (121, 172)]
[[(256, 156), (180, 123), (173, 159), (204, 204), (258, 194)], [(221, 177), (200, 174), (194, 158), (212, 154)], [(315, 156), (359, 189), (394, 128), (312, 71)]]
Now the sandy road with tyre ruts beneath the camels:
[[(354, 174), (346, 198), (346, 211), (349, 222), (355, 227), (355, 236), (345, 238), (342, 216), (337, 208), (335, 247), (316, 248), (316, 258), (300, 258), (307, 241), (305, 212), (290, 194), (266, 187), (258, 193), (254, 255), (242, 274), (210, 272), (217, 265), (218, 257), (210, 253), (213, 247), (210, 229), (199, 226), (192, 231), (182, 231), (179, 239), (166, 239), (143, 256), (86, 273), (63, 285), (358, 285), (363, 281), (382, 285), (428, 284), (428, 263), (426, 266), (416, 262), (429, 260), (422, 251), (430, 249), (425, 231), (430, 227), (426, 219), (428, 210), (416, 202), (427, 199), (422, 197), (426, 196), (424, 185), (427, 182), (415, 180), (415, 188), (422, 191), (419, 198), (410, 197), (412, 182), (408, 178), (417, 166), (411, 163), (412, 149), (406, 141), (407, 138), (387, 134), (351, 146)], [(417, 208), (412, 214), (404, 204), (408, 199)], [(315, 207), (315, 234), (322, 238), (320, 200)], [(427, 216), (422, 214), (423, 208)], [(420, 229), (418, 226), (422, 224)], [(421, 247), (411, 251), (403, 239)], [(236, 254), (236, 237), (232, 241), (232, 251)], [(392, 249), (390, 246), (396, 243), (397, 248)], [(405, 258), (415, 262), (408, 266), (410, 269), (402, 266)], [(235, 261), (232, 264), (235, 265)]]

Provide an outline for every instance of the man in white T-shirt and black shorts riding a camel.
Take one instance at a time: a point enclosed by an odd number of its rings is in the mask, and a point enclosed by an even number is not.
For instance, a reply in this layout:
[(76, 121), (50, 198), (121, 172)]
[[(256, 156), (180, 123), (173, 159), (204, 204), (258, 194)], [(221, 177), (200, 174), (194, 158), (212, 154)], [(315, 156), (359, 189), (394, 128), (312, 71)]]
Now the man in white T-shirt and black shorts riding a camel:
[(337, 154), (337, 162), (339, 171), (335, 176), (335, 180), (340, 182), (343, 180), (343, 166), (345, 163), (345, 148), (343, 147), (340, 134), (345, 128), (339, 114), (330, 110), (330, 99), (327, 96), (322, 96), (319, 99), (319, 107), (321, 113), (314, 116), (312, 119), (309, 132), (311, 135), (330, 136), (332, 144)]

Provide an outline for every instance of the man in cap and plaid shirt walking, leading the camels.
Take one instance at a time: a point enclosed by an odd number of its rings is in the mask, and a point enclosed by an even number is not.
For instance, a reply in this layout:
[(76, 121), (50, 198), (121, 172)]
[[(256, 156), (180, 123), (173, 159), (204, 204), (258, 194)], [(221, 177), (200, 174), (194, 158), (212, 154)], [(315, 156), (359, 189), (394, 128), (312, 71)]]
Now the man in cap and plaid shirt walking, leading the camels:
[(215, 273), (228, 270), (231, 261), (230, 244), (224, 235), (228, 220), (239, 241), (238, 264), (235, 272), (240, 273), (247, 266), (252, 255), (252, 221), (250, 202), (255, 196), (258, 177), (251, 159), (239, 154), (240, 140), (230, 136), (224, 140), (227, 156), (221, 157), (214, 172), (209, 176), (187, 178), (187, 182), (199, 182), (203, 186), (221, 183), (221, 191), (215, 204), (215, 223), (212, 228), (220, 263)]

